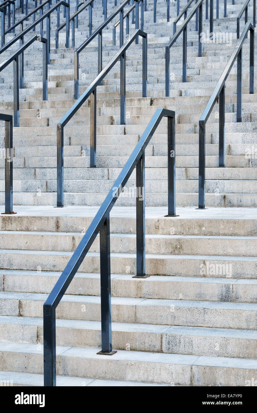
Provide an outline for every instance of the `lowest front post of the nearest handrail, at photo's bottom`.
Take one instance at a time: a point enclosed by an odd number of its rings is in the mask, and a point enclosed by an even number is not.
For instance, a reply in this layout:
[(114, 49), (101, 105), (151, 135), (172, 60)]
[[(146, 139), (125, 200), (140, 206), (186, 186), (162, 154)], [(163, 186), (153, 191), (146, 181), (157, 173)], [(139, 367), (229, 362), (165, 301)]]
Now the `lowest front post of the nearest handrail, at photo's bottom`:
[(55, 309), (43, 306), (44, 317), (44, 386), (56, 386)]

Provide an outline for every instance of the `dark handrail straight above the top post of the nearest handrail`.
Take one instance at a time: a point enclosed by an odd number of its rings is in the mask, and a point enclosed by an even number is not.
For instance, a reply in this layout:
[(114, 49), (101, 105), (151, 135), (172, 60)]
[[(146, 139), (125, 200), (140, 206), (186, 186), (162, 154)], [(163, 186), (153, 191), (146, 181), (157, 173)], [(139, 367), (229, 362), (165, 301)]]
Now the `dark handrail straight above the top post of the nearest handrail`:
[(165, 96), (170, 95), (170, 48), (175, 43), (177, 38), (183, 32), (183, 72), (182, 81), (187, 81), (187, 24), (192, 19), (196, 11), (199, 11), (199, 40), (198, 40), (198, 56), (202, 57), (202, 43), (201, 43), (201, 33), (203, 28), (203, 0), (199, 0), (194, 6), (192, 12), (183, 21), (181, 26), (178, 28), (176, 33), (173, 35), (169, 43), (165, 47)]

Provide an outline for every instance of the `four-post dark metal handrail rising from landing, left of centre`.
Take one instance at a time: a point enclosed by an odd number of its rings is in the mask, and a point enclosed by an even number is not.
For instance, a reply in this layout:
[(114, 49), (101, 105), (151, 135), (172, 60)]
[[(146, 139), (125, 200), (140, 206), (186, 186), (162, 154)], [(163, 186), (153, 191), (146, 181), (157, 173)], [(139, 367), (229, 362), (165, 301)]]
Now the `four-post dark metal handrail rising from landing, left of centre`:
[(90, 96), (90, 167), (96, 167), (96, 87), (101, 85), (102, 80), (112, 69), (114, 64), (120, 60), (121, 67), (121, 92), (120, 92), (120, 124), (126, 124), (126, 50), (133, 41), (141, 36), (143, 38), (143, 76), (142, 96), (147, 97), (147, 34), (140, 29), (135, 30), (130, 38), (121, 46), (119, 51), (112, 57), (110, 62), (98, 74), (77, 102), (63, 116), (57, 124), (57, 207), (63, 207), (63, 128), (70, 121), (81, 105)]

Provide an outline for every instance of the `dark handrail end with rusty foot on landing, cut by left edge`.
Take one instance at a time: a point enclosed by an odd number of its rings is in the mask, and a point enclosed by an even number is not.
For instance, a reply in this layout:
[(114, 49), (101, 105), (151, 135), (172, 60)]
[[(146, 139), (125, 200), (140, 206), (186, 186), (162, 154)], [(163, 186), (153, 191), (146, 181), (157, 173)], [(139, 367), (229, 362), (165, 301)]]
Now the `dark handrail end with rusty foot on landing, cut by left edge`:
[(5, 158), (5, 212), (2, 212), (2, 214), (14, 214), (12, 210), (12, 115), (0, 113), (0, 120), (5, 121), (5, 148), (3, 148), (3, 157)]

